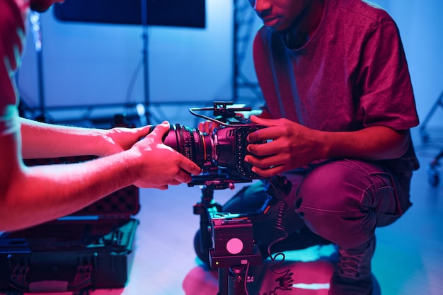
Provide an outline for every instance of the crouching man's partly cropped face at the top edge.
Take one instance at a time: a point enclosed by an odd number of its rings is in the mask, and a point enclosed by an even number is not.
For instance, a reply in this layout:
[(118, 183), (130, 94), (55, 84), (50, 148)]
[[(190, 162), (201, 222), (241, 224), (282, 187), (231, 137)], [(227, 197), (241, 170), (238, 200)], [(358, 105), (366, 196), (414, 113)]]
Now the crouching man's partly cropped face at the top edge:
[(297, 21), (311, 0), (249, 0), (263, 24), (272, 31), (286, 30)]

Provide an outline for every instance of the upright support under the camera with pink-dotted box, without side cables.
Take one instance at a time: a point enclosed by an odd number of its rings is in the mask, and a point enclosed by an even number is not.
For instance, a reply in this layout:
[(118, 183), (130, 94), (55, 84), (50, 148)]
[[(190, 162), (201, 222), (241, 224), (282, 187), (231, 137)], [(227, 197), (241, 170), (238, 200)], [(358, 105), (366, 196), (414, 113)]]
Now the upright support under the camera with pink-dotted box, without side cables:
[(194, 214), (200, 215), (200, 248), (208, 251), (210, 266), (218, 269), (217, 295), (247, 295), (246, 283), (253, 281), (249, 265), (262, 264), (260, 250), (253, 243), (251, 220), (223, 213), (214, 201), (214, 190), (207, 186), (202, 187)]

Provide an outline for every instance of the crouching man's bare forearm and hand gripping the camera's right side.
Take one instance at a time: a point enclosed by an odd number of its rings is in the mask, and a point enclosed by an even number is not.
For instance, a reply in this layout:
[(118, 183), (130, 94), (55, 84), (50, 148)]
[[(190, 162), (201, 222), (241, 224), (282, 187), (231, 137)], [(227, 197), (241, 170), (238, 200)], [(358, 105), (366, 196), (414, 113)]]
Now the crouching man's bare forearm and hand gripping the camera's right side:
[(248, 136), (248, 141), (272, 140), (266, 144), (249, 144), (245, 161), (253, 172), (263, 177), (305, 166), (327, 158), (359, 158), (376, 161), (398, 158), (408, 149), (407, 130), (367, 127), (354, 132), (323, 132), (309, 129), (287, 119), (251, 118), (269, 126)]

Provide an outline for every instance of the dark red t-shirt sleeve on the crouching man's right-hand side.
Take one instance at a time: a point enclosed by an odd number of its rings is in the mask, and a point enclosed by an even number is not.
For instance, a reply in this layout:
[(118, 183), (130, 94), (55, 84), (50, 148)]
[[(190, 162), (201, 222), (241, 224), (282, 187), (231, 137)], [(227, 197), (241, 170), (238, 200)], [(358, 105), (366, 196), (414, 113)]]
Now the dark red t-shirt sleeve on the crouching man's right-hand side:
[(362, 50), (358, 83), (364, 127), (401, 130), (418, 125), (413, 87), (398, 28), (393, 21), (374, 25)]

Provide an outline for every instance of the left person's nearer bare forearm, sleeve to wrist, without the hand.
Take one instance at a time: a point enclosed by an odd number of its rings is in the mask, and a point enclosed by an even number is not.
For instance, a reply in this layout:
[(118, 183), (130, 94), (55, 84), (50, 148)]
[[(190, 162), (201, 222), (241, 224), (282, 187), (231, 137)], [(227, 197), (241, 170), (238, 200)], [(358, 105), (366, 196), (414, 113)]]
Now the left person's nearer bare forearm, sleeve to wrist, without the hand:
[(57, 219), (131, 185), (139, 177), (138, 163), (127, 151), (86, 163), (18, 170), (2, 195), (0, 231)]

